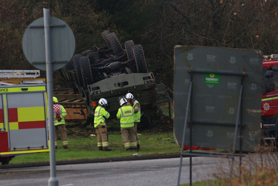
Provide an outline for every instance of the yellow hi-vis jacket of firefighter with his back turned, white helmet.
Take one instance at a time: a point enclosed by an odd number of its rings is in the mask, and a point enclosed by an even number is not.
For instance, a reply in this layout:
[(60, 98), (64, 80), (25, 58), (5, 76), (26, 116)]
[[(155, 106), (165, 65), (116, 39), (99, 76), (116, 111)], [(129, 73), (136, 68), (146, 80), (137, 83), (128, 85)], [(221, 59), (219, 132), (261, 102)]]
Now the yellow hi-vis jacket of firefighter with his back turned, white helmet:
[(134, 127), (133, 123), (134, 109), (132, 106), (122, 106), (119, 108), (117, 118), (120, 119), (120, 125), (122, 128)]

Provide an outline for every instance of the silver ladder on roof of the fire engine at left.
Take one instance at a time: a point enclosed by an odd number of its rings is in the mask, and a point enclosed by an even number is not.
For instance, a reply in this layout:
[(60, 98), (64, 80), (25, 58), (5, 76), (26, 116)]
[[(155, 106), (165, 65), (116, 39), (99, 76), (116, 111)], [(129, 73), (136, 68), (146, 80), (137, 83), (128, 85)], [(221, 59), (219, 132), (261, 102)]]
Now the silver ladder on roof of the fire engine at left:
[(0, 77), (4, 78), (36, 78), (40, 77), (39, 70), (0, 70)]

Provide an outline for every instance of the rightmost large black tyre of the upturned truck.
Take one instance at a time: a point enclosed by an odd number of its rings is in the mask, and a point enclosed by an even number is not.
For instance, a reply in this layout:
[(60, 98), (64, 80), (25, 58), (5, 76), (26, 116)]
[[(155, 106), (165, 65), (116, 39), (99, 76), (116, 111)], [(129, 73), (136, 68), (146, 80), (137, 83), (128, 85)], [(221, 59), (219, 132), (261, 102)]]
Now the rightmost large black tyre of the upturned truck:
[(135, 45), (133, 47), (133, 55), (137, 66), (138, 73), (148, 73), (147, 63), (144, 55), (144, 51), (141, 45)]

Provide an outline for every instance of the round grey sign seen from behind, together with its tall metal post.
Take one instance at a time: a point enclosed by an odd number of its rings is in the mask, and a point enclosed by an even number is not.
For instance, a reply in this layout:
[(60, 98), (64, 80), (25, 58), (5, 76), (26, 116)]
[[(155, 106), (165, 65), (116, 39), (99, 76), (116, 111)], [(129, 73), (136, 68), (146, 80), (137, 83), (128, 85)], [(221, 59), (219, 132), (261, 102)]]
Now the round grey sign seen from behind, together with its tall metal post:
[(50, 17), (49, 9), (43, 9), (44, 17), (33, 21), (23, 35), (23, 53), (36, 68), (46, 70), (48, 123), (50, 135), (49, 186), (58, 186), (54, 145), (53, 77), (52, 71), (66, 65), (75, 50), (74, 35), (62, 20)]

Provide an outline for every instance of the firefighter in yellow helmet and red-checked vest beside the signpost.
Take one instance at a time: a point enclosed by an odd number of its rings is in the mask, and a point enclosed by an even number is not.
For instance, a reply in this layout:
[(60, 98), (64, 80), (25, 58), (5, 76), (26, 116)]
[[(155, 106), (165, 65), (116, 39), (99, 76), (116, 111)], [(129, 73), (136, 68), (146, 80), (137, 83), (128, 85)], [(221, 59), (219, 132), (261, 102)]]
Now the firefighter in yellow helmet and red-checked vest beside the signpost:
[(65, 117), (67, 115), (67, 111), (64, 109), (62, 105), (58, 104), (58, 99), (56, 97), (53, 97), (53, 111), (54, 111), (54, 126), (55, 126), (55, 148), (58, 148), (57, 143), (57, 132), (59, 131), (61, 138), (62, 138), (62, 144), (64, 149), (68, 149), (68, 137), (66, 132), (66, 126), (65, 126)]

